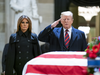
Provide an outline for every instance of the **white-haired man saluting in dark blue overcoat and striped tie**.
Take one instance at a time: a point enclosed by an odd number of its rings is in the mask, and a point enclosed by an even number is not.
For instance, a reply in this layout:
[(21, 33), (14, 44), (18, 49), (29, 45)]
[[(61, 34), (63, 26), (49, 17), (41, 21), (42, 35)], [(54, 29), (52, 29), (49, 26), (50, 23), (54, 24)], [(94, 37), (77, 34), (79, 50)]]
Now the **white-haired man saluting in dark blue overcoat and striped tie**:
[[(61, 21), (62, 27), (56, 27)], [(65, 11), (61, 18), (42, 30), (38, 39), (50, 44), (50, 51), (84, 51), (87, 42), (83, 31), (72, 26), (73, 13)], [(67, 40), (67, 41), (66, 41)]]

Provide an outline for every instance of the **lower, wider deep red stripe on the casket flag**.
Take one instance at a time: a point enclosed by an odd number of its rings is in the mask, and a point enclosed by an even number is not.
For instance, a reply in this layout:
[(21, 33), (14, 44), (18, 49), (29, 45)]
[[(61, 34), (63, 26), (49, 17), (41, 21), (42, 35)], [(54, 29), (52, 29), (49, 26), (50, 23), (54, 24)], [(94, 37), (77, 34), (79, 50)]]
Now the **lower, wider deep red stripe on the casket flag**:
[(87, 75), (86, 66), (28, 65), (26, 73)]

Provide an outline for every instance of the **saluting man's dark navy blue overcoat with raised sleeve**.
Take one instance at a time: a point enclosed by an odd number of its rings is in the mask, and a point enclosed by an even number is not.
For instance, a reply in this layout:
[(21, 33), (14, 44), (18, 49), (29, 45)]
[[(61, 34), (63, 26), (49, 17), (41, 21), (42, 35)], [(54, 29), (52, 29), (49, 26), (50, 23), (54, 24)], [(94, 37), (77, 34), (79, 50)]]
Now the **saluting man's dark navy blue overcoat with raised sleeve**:
[(75, 29), (72, 26), (71, 40), (68, 49), (65, 49), (63, 35), (63, 27), (51, 29), (51, 25), (49, 25), (39, 33), (38, 39), (42, 42), (48, 42), (50, 44), (50, 51), (84, 51), (87, 48), (83, 31)]

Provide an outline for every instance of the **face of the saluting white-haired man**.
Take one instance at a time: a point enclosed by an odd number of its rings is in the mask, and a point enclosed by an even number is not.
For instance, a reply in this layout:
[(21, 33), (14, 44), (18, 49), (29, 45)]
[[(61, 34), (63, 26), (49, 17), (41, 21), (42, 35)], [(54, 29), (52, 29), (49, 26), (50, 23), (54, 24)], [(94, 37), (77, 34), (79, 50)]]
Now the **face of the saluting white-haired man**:
[(73, 18), (71, 16), (62, 15), (61, 24), (65, 29), (69, 29), (73, 23)]

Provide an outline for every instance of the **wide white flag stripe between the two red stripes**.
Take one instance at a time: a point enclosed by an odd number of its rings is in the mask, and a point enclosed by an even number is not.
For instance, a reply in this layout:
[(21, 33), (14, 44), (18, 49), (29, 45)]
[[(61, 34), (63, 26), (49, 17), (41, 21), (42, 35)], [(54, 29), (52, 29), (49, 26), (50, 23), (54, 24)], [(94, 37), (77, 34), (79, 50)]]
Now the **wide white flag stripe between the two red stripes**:
[[(33, 63), (34, 62), (34, 63)], [(62, 65), (62, 66), (87, 66), (87, 59), (76, 58), (35, 58), (28, 62), (30, 65)], [(28, 64), (27, 63), (27, 64)]]

